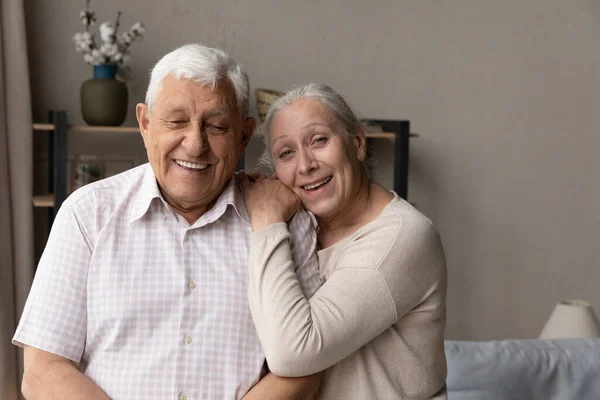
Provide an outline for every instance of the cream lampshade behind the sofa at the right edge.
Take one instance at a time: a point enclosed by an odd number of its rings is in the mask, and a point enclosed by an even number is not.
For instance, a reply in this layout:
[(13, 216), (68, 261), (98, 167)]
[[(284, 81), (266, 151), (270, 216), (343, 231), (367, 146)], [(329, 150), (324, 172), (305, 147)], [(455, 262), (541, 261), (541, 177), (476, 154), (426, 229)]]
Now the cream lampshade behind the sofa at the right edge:
[(565, 300), (554, 307), (540, 339), (600, 337), (600, 324), (592, 306), (583, 300)]

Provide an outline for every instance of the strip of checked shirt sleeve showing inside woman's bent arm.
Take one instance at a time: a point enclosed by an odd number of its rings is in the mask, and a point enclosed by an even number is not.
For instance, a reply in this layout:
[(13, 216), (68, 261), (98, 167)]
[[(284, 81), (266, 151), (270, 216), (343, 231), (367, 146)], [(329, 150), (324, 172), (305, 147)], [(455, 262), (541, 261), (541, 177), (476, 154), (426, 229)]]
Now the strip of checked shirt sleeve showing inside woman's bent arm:
[(302, 292), (309, 299), (321, 287), (317, 259), (317, 235), (308, 211), (301, 209), (289, 223), (291, 251)]

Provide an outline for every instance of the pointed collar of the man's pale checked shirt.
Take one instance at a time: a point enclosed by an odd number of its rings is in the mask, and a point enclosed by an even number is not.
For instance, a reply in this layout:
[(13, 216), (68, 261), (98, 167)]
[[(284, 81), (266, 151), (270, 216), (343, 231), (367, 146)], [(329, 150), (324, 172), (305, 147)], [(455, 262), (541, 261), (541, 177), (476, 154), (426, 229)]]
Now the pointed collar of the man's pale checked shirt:
[[(154, 175), (154, 171), (152, 170), (150, 164), (147, 164), (147, 168), (142, 178), (142, 183), (135, 196), (132, 212), (129, 218), (129, 224), (134, 223), (146, 215), (150, 209), (150, 204), (156, 198), (159, 198), (163, 202), (165, 208), (168, 210), (171, 209), (160, 193), (158, 183), (156, 182), (156, 176)], [(237, 179), (237, 173), (234, 174), (227, 185), (225, 185), (225, 189), (223, 189), (221, 192), (221, 195), (217, 199), (215, 205), (204, 215), (202, 215), (202, 217), (200, 217), (194, 225), (198, 223), (203, 225), (219, 219), (227, 210), (228, 205), (231, 205), (234, 208), (235, 212), (240, 218), (242, 218), (246, 223), (250, 224), (250, 216), (246, 210), (244, 194)]]

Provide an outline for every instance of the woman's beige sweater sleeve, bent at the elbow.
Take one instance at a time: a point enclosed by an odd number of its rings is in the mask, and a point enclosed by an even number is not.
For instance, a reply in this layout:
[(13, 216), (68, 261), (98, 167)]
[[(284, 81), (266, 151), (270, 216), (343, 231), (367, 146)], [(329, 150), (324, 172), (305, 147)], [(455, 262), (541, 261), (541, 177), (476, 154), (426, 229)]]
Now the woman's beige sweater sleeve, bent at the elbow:
[(352, 242), (351, 251), (341, 251), (334, 272), (310, 300), (293, 274), (285, 224), (253, 234), (250, 309), (275, 374), (304, 376), (332, 366), (434, 290), (440, 275), (428, 263), (439, 254), (426, 253), (436, 245), (435, 235), (417, 233), (403, 244), (390, 233), (365, 235)]

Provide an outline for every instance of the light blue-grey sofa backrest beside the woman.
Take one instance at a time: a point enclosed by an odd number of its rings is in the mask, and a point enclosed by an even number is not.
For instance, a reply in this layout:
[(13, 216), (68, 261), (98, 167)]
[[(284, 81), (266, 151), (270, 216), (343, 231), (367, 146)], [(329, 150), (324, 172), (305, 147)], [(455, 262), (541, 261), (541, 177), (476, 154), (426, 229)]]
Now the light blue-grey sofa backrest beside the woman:
[(449, 400), (600, 399), (600, 340), (448, 340)]

